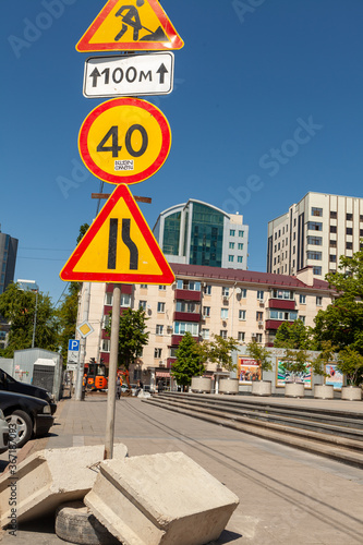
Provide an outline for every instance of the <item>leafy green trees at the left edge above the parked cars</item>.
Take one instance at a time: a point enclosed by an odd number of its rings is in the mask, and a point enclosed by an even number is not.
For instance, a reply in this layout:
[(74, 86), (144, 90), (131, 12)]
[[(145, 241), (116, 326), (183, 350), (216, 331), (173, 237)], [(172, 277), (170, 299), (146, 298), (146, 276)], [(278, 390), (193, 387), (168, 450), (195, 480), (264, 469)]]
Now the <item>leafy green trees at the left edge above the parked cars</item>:
[(3, 358), (13, 358), (15, 350), (32, 348), (36, 312), (36, 348), (58, 351), (59, 320), (49, 295), (21, 290), (11, 283), (0, 295), (0, 315), (10, 324), (9, 343), (1, 351)]

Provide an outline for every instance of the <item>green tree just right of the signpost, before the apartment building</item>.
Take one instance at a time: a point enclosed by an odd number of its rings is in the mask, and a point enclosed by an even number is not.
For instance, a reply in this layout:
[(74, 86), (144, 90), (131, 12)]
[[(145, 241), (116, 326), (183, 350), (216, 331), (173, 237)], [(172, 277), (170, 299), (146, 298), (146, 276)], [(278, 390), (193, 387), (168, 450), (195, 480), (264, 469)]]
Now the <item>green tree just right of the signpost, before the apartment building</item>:
[[(126, 308), (120, 316), (118, 361), (119, 366), (124, 367), (126, 371), (140, 358), (143, 348), (148, 343), (147, 319), (143, 308), (137, 311)], [(111, 335), (111, 323), (112, 316), (109, 326), (106, 328), (108, 335)]]

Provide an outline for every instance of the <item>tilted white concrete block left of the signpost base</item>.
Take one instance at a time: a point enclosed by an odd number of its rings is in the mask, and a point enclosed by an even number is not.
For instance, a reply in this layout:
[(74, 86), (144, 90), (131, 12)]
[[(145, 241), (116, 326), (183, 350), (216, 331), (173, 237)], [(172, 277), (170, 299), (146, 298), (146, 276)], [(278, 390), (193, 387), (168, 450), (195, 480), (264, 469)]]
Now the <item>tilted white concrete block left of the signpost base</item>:
[[(55, 511), (64, 501), (83, 499), (96, 481), (104, 451), (104, 445), (40, 450), (2, 474), (1, 526), (10, 524), (11, 517), (23, 522)], [(124, 445), (114, 445), (113, 458), (126, 456)]]

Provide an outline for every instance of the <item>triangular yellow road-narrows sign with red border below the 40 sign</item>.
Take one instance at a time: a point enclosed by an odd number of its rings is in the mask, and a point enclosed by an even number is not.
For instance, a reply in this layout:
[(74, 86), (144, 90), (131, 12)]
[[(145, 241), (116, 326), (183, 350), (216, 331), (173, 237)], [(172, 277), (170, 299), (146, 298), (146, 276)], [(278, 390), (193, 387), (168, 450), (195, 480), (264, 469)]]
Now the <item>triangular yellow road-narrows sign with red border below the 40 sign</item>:
[(75, 282), (149, 283), (174, 280), (129, 187), (118, 185), (66, 262), (60, 277)]

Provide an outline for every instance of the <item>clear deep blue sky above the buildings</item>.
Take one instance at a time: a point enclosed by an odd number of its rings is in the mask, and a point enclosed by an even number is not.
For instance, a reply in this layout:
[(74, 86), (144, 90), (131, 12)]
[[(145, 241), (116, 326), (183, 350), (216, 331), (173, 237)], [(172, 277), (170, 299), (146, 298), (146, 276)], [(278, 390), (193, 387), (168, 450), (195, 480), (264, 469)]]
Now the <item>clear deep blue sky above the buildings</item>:
[[(55, 0), (57, 17), (44, 16), (50, 4), (2, 2), (0, 222), (20, 240), (15, 277), (36, 280), (56, 303), (59, 271), (97, 207), (90, 193), (100, 182), (83, 167), (77, 136), (104, 99), (83, 96), (89, 55), (75, 45), (106, 1)], [(250, 226), (249, 268), (264, 271), (267, 222), (290, 204), (308, 191), (362, 196), (363, 2), (161, 5), (185, 43), (173, 93), (150, 99), (173, 141), (165, 166), (131, 191), (153, 198), (141, 205), (152, 228), (189, 198), (239, 211)], [(75, 184), (68, 194), (60, 177)]]

